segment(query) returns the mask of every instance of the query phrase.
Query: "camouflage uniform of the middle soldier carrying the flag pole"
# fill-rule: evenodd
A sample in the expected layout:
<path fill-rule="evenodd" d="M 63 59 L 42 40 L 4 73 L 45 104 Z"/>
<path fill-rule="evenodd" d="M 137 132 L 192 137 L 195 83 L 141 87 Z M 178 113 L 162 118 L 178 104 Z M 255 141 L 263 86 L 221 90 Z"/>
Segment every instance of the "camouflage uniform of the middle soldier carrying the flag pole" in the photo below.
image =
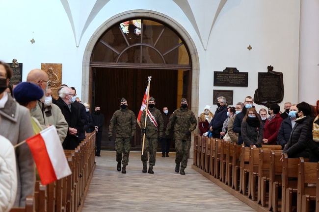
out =
<path fill-rule="evenodd" d="M 160 133 L 160 138 L 164 134 L 164 120 L 160 114 L 160 110 L 154 108 L 149 108 L 149 111 L 154 116 L 155 120 L 158 123 L 156 127 L 149 117 L 146 118 L 146 133 L 145 133 L 145 142 L 144 142 L 144 154 L 141 156 L 142 162 L 147 162 L 147 152 L 150 152 L 150 165 L 155 165 L 156 162 L 156 149 L 158 146 L 158 138 Z M 146 110 L 143 111 L 141 116 L 141 128 L 145 128 L 145 114 Z M 143 142 L 143 137 L 142 137 Z"/>

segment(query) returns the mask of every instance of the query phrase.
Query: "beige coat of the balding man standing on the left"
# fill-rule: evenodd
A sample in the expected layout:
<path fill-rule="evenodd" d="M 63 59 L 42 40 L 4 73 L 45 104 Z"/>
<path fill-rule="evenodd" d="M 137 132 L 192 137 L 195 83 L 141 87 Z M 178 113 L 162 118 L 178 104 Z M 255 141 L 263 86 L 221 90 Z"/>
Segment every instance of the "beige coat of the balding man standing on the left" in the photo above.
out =
<path fill-rule="evenodd" d="M 68 133 L 69 125 L 58 106 L 51 104 L 51 106 L 45 107 L 44 115 L 42 115 L 42 103 L 38 101 L 35 110 L 31 113 L 31 116 L 39 121 L 43 129 L 47 128 L 49 124 L 54 125 L 57 129 L 59 139 L 61 143 L 63 143 Z"/>

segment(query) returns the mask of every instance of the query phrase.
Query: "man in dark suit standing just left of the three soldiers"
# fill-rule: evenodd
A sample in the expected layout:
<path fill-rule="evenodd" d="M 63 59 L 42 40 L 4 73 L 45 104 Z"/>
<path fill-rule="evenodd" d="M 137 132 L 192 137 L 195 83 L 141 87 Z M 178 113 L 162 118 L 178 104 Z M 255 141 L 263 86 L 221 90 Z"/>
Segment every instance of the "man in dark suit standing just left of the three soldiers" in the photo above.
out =
<path fill-rule="evenodd" d="M 102 132 L 104 124 L 104 115 L 101 113 L 101 108 L 99 105 L 96 105 L 94 108 L 94 113 L 91 114 L 94 129 L 96 131 L 96 152 L 95 156 L 100 157 L 101 155 L 101 142 L 102 142 Z"/>

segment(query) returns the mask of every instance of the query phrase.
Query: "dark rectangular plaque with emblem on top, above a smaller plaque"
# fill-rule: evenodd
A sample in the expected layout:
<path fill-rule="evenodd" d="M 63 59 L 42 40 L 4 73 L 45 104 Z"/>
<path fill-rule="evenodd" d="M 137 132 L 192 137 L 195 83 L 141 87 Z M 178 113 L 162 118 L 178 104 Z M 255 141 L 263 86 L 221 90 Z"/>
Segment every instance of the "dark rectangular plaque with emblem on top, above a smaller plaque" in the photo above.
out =
<path fill-rule="evenodd" d="M 248 72 L 229 67 L 224 71 L 214 71 L 214 86 L 248 87 Z"/>

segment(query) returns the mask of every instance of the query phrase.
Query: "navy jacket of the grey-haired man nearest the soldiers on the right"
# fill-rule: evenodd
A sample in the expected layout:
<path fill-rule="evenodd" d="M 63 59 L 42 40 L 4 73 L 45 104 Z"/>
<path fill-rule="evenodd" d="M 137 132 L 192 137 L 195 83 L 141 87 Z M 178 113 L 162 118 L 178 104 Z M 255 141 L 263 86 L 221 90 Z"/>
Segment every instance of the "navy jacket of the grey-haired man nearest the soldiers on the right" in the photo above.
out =
<path fill-rule="evenodd" d="M 212 132 L 213 138 L 220 137 L 220 132 L 223 129 L 223 123 L 225 119 L 228 118 L 227 111 L 228 111 L 227 105 L 220 106 L 216 109 L 214 117 L 211 120 L 211 123 L 209 125 L 209 127 L 213 128 L 213 132 Z"/>

